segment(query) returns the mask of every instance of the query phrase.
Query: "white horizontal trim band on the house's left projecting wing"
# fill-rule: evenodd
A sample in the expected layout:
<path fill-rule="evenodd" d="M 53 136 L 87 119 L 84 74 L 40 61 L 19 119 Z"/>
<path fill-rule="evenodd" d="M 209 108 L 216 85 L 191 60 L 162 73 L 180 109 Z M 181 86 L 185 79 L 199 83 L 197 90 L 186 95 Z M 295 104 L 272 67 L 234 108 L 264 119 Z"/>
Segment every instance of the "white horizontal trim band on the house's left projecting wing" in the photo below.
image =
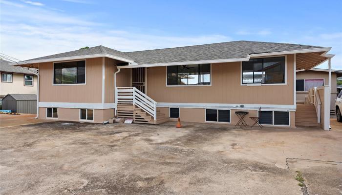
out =
<path fill-rule="evenodd" d="M 71 103 L 71 102 L 39 102 L 39 107 L 52 108 L 86 108 L 86 109 L 111 109 L 114 103 Z"/>

